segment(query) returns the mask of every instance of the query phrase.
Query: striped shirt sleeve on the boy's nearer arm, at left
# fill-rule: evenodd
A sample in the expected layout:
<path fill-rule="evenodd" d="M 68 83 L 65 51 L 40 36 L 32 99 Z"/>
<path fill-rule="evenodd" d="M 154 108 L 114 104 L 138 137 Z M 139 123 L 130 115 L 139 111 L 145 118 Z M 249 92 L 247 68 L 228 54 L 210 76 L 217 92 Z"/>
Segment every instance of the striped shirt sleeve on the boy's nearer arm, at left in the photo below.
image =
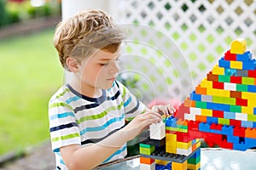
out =
<path fill-rule="evenodd" d="M 49 100 L 49 133 L 54 152 L 59 152 L 62 146 L 81 144 L 73 108 L 60 98 Z"/>

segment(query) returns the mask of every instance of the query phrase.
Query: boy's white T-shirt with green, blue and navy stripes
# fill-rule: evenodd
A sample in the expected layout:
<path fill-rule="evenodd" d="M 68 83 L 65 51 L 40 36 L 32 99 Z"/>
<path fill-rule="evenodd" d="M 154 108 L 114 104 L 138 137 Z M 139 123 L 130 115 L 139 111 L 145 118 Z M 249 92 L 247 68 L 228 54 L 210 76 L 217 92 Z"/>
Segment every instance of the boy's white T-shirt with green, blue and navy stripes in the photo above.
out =
<path fill-rule="evenodd" d="M 56 169 L 67 169 L 60 148 L 70 144 L 83 147 L 105 139 L 142 113 L 145 105 L 124 85 L 114 82 L 99 98 L 79 94 L 70 85 L 62 86 L 49 100 L 49 132 Z M 103 162 L 123 158 L 126 144 Z"/>

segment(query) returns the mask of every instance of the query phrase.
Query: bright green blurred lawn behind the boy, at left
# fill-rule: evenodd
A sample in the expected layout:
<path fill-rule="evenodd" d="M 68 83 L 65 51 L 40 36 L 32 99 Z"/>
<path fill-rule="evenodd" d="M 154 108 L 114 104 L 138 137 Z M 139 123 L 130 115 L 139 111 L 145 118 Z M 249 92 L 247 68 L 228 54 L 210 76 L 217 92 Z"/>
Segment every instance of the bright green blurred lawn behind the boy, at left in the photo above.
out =
<path fill-rule="evenodd" d="M 0 155 L 49 139 L 48 101 L 63 77 L 53 34 L 0 40 Z"/>

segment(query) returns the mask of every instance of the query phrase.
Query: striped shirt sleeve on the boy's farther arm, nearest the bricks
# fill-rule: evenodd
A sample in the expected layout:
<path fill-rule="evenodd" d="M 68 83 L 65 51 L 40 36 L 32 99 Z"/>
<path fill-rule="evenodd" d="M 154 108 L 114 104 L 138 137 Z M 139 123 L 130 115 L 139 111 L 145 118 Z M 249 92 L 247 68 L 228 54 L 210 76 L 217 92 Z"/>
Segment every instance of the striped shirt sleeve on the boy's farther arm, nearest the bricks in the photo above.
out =
<path fill-rule="evenodd" d="M 146 106 L 133 94 L 131 94 L 129 89 L 126 88 L 122 83 L 116 83 L 124 101 L 125 119 L 127 121 L 131 121 L 131 119 L 138 114 L 142 114 L 145 111 Z"/>

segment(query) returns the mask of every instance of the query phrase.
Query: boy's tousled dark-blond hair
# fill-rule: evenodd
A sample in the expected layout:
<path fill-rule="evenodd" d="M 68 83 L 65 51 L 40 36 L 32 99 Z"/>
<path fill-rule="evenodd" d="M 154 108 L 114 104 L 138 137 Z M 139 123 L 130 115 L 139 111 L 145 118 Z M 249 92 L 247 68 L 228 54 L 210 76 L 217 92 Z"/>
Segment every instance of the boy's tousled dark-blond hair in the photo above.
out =
<path fill-rule="evenodd" d="M 123 31 L 113 24 L 110 15 L 102 10 L 87 9 L 61 21 L 56 26 L 53 43 L 61 65 L 69 71 L 68 57 L 80 61 L 95 53 L 96 49 L 115 53 L 123 38 Z"/>

